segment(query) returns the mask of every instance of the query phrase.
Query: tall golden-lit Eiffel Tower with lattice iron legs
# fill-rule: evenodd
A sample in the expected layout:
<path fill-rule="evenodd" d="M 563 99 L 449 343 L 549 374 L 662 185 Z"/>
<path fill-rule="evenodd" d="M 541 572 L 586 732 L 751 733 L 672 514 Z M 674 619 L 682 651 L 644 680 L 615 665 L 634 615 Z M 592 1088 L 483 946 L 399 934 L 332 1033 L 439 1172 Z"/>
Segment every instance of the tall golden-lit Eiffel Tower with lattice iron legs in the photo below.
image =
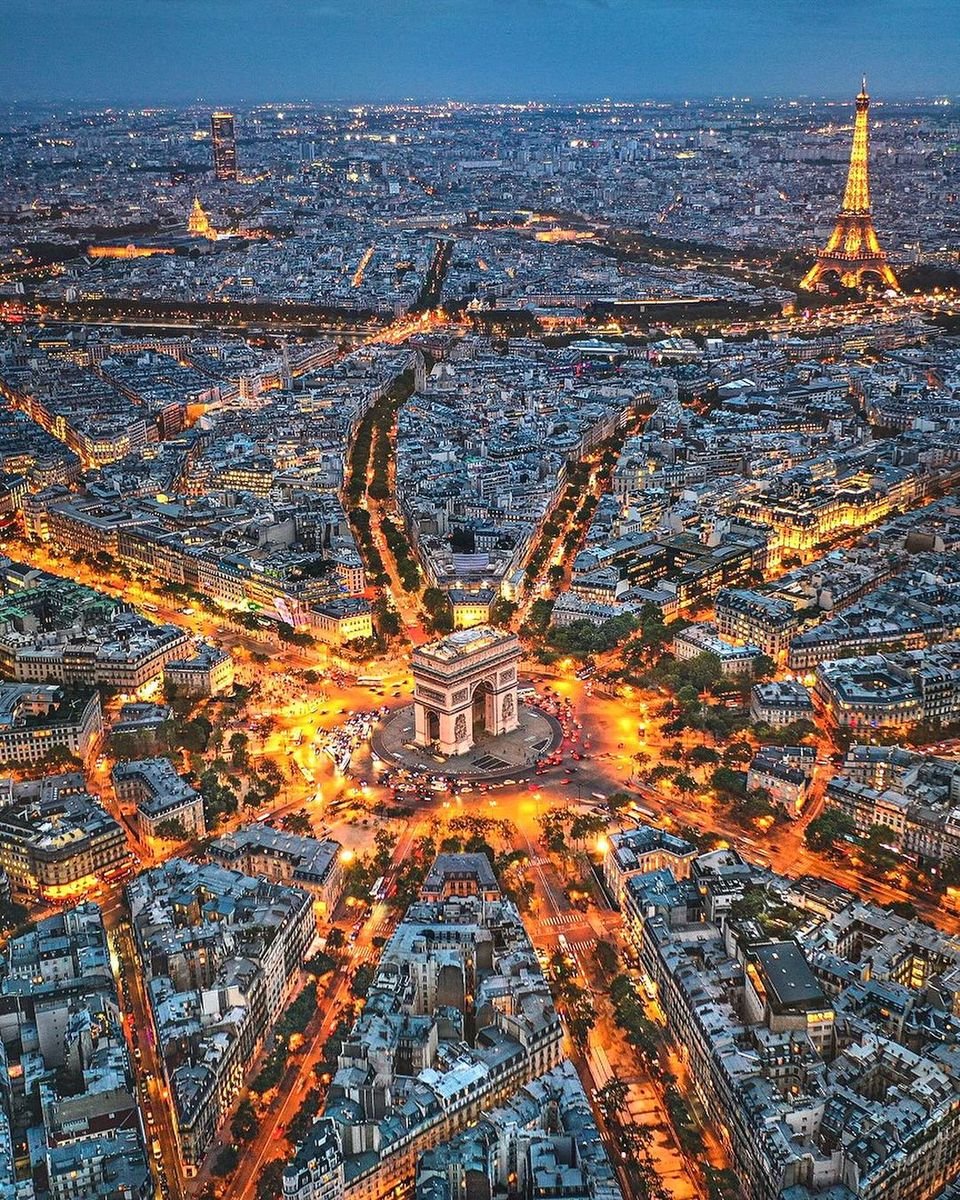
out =
<path fill-rule="evenodd" d="M 845 288 L 859 288 L 866 282 L 883 283 L 900 290 L 887 254 L 880 248 L 870 212 L 870 97 L 866 78 L 857 97 L 853 121 L 853 146 L 844 203 L 836 214 L 829 241 L 804 275 L 800 287 L 808 292 L 818 283 L 838 280 Z"/>

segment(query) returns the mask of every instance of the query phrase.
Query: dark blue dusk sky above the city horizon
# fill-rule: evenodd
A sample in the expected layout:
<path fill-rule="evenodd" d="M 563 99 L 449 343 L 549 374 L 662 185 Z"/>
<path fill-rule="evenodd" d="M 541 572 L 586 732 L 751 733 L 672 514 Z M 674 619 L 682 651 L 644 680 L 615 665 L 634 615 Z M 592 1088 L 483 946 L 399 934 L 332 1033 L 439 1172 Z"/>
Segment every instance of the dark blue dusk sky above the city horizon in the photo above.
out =
<path fill-rule="evenodd" d="M 0 0 L 0 100 L 954 94 L 958 0 Z"/>

